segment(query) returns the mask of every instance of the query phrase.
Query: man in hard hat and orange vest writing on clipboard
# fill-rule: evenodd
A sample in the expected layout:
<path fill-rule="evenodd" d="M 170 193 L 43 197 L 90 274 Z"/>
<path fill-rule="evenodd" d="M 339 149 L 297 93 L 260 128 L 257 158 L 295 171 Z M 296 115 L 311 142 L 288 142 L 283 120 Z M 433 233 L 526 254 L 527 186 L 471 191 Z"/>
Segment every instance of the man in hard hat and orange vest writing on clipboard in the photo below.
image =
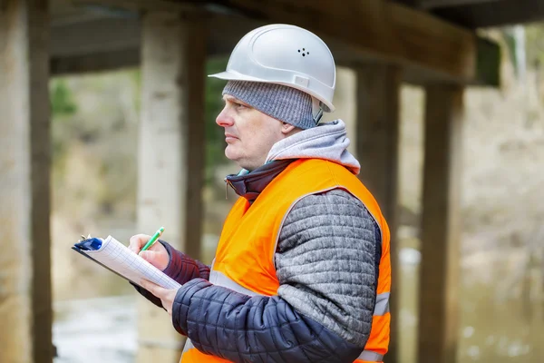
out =
<path fill-rule="evenodd" d="M 382 361 L 389 344 L 389 231 L 358 181 L 334 111 L 335 62 L 305 29 L 267 25 L 228 61 L 226 179 L 240 198 L 211 267 L 167 242 L 141 252 L 183 286 L 143 281 L 188 341 L 181 362 Z M 149 236 L 131 238 L 139 252 Z M 152 295 L 149 293 L 151 292 Z"/>

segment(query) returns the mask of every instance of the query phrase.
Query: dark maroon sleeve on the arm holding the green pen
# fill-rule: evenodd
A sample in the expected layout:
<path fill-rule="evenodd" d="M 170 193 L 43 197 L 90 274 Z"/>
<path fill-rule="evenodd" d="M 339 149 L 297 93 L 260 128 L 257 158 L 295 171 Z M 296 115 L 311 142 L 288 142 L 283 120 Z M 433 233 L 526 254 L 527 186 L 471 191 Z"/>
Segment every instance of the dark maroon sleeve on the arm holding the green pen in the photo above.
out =
<path fill-rule="evenodd" d="M 170 243 L 159 240 L 164 248 L 168 251 L 170 256 L 170 262 L 166 267 L 164 272 L 172 280 L 176 280 L 181 285 L 187 283 L 189 280 L 193 279 L 204 279 L 209 280 L 209 266 L 200 262 L 199 260 L 191 259 L 187 254 L 174 249 Z M 160 299 L 151 294 L 147 289 L 143 289 L 140 286 L 137 286 L 131 283 L 144 298 L 150 300 L 153 304 L 162 308 L 162 303 Z"/>

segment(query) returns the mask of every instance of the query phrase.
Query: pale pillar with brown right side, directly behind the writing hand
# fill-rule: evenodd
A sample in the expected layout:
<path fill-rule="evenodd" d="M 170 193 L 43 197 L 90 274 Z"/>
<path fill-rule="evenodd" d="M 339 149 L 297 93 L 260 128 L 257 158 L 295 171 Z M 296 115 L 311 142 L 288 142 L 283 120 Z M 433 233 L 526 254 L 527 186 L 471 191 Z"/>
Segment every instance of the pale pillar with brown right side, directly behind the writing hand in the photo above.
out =
<path fill-rule="evenodd" d="M 206 34 L 197 13 L 143 15 L 139 231 L 199 257 L 204 172 Z M 165 311 L 139 306 L 139 362 L 176 362 L 182 339 Z"/>

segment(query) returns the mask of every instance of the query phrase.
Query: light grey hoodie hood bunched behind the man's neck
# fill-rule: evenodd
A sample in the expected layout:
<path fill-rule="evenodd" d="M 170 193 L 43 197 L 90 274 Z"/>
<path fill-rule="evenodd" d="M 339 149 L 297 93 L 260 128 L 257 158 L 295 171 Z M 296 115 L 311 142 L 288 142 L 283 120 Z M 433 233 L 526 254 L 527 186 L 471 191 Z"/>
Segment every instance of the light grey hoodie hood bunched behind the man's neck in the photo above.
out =
<path fill-rule="evenodd" d="M 276 142 L 268 152 L 265 164 L 286 159 L 324 159 L 339 163 L 358 175 L 361 165 L 347 151 L 350 141 L 346 135 L 345 123 L 342 120 L 320 123 Z"/>

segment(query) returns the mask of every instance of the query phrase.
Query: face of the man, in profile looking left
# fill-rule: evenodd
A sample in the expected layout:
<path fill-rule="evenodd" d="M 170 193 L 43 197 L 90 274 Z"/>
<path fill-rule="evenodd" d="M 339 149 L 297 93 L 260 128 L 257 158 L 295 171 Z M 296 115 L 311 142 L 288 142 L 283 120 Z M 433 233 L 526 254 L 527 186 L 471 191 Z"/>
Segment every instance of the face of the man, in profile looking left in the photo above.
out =
<path fill-rule="evenodd" d="M 272 145 L 285 137 L 285 126 L 231 95 L 225 94 L 223 101 L 225 108 L 216 123 L 225 129 L 225 156 L 241 168 L 255 170 L 265 162 Z"/>

